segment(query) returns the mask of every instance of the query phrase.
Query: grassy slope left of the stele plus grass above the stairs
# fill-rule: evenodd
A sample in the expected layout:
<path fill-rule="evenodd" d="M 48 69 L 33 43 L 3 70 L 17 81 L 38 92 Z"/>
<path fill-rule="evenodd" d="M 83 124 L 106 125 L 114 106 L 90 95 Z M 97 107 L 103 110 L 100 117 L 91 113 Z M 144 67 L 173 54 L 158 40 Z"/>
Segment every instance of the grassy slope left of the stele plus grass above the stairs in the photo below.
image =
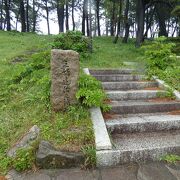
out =
<path fill-rule="evenodd" d="M 0 32 L 0 172 L 6 170 L 5 153 L 32 125 L 41 128 L 43 139 L 52 141 L 61 148 L 79 150 L 84 144 L 93 143 L 92 125 L 88 112 L 80 107 L 72 107 L 67 114 L 54 114 L 47 108 L 43 88 L 49 77 L 49 63 L 41 70 L 35 70 L 20 83 L 13 84 L 12 78 L 23 68 L 38 60 L 29 53 L 37 49 L 47 49 L 52 36 Z M 25 58 L 23 57 L 25 54 Z M 23 62 L 12 63 L 14 57 Z M 48 59 L 44 58 L 44 59 Z M 44 61 L 44 59 L 42 61 Z M 109 38 L 94 39 L 94 53 L 84 58 L 82 67 L 102 68 L 123 67 L 123 61 L 137 61 L 144 64 L 142 52 L 134 47 L 134 42 L 112 43 Z M 17 88 L 18 87 L 18 88 Z M 47 104 L 46 104 L 47 103 Z M 80 129 L 80 131 L 77 131 Z"/>

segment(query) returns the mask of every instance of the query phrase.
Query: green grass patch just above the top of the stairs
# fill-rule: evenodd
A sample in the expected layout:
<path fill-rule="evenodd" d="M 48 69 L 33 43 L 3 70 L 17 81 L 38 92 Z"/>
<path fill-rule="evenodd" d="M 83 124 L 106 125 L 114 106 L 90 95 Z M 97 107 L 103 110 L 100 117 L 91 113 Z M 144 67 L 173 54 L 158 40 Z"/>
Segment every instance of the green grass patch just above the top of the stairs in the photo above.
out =
<path fill-rule="evenodd" d="M 117 44 L 113 44 L 112 40 L 112 37 L 94 38 L 94 52 L 83 60 L 82 67 L 118 68 L 124 66 L 124 61 L 142 61 L 143 53 L 135 48 L 134 40 L 130 40 L 128 44 L 121 43 L 121 39 Z"/>

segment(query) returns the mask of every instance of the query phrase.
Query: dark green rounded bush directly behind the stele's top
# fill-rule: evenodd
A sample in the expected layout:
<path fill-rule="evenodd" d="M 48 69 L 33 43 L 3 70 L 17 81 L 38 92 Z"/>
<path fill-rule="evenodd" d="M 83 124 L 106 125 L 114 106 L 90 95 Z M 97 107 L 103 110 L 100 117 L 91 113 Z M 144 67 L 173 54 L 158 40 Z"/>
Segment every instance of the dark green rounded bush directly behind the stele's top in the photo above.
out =
<path fill-rule="evenodd" d="M 74 50 L 78 53 L 89 51 L 90 40 L 80 31 L 68 31 L 57 35 L 51 44 L 53 49 Z"/>

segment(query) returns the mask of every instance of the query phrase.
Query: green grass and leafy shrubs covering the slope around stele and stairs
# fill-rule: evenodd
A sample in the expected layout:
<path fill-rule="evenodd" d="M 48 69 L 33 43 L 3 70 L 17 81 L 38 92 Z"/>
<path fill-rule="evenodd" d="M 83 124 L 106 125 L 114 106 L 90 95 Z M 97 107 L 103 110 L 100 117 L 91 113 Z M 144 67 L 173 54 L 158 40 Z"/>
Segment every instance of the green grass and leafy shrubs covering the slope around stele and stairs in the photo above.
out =
<path fill-rule="evenodd" d="M 69 38 L 68 42 L 64 41 L 67 49 L 71 47 L 83 52 L 81 68 L 125 67 L 124 61 L 135 61 L 146 66 L 149 75 L 158 75 L 179 90 L 179 61 L 169 59 L 173 55 L 171 48 L 176 54 L 178 51 L 177 46 L 167 44 L 172 41 L 169 39 L 166 42 L 162 39 L 145 42 L 148 56 L 144 58 L 145 50 L 135 48 L 135 39 L 129 39 L 128 44 L 122 41 L 114 44 L 113 37 L 96 37 L 89 46 L 89 41 L 79 32 L 40 36 L 0 31 L 1 173 L 5 173 L 9 167 L 24 170 L 33 166 L 36 144 L 27 151 L 20 150 L 14 160 L 7 158 L 6 152 L 34 124 L 41 129 L 40 139 L 48 140 L 62 150 L 82 151 L 86 156 L 85 165 L 95 164 L 94 137 L 88 108 L 100 106 L 105 111 L 109 109 L 109 106 L 104 105 L 106 96 L 99 82 L 84 75 L 81 70 L 77 93 L 79 103 L 69 107 L 66 113 L 51 111 L 50 49 L 64 47 L 58 44 L 58 41 L 63 42 L 63 38 Z M 79 40 L 82 44 L 77 43 Z M 72 48 L 72 44 L 78 46 Z M 152 51 L 157 46 L 160 51 Z M 93 47 L 92 53 L 89 53 L 89 47 Z"/>

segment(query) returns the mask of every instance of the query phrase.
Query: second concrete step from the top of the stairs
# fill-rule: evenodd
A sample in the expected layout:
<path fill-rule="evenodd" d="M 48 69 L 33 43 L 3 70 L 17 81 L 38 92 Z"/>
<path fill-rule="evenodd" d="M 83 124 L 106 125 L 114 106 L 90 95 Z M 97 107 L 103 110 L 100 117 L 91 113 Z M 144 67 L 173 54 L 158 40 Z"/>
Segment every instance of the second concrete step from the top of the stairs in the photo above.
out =
<path fill-rule="evenodd" d="M 94 75 L 94 77 L 102 82 L 117 82 L 117 81 L 139 81 L 144 78 L 143 75 L 120 75 L 120 74 L 109 74 L 109 75 Z"/>

